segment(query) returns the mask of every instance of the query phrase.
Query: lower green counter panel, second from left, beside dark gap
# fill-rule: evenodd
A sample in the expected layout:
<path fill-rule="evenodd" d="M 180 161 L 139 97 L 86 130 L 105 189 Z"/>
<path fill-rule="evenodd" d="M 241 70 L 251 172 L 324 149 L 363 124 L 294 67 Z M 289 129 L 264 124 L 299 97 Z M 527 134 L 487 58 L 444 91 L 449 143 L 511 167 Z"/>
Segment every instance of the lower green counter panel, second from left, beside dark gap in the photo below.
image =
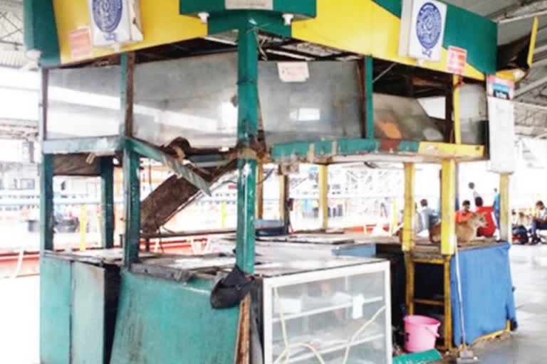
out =
<path fill-rule="evenodd" d="M 105 362 L 105 269 L 72 264 L 72 363 Z"/>

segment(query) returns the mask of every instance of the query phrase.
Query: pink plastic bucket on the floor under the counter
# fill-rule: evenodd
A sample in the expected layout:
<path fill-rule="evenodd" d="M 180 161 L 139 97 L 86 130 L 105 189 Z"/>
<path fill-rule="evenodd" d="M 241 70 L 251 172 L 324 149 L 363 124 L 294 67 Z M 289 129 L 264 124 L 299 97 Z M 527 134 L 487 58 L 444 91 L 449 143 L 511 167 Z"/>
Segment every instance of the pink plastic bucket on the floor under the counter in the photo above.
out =
<path fill-rule="evenodd" d="M 435 348 L 441 323 L 427 316 L 405 317 L 405 350 L 420 353 Z"/>

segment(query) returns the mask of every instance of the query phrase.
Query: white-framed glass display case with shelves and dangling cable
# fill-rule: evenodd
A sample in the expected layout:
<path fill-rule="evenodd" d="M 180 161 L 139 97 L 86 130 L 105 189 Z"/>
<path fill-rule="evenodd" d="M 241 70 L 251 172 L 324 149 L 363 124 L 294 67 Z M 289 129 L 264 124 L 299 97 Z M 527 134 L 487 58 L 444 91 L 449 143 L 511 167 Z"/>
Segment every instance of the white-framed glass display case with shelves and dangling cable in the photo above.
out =
<path fill-rule="evenodd" d="M 264 363 L 392 363 L 389 262 L 262 264 Z"/>

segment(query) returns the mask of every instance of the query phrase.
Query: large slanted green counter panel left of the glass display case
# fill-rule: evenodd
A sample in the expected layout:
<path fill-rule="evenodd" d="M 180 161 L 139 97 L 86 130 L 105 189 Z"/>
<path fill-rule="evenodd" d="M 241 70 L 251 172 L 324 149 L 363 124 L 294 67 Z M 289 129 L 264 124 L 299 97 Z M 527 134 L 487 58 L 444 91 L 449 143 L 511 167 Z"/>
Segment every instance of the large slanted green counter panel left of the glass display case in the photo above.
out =
<path fill-rule="evenodd" d="M 234 363 L 239 307 L 212 309 L 211 289 L 124 271 L 110 363 Z"/>

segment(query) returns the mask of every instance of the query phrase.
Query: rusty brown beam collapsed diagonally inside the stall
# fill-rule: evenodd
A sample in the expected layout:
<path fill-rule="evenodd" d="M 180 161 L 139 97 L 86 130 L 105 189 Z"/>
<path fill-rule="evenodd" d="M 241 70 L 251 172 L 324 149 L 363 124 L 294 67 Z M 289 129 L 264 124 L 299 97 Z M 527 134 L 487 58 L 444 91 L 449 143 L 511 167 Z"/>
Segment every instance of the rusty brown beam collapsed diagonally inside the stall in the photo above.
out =
<path fill-rule="evenodd" d="M 211 186 L 224 174 L 234 171 L 236 162 L 231 161 L 219 168 L 197 169 L 194 173 L 202 177 Z M 142 200 L 140 210 L 141 230 L 143 233 L 156 232 L 165 225 L 179 210 L 199 196 L 199 189 L 184 178 L 171 176 Z"/>

